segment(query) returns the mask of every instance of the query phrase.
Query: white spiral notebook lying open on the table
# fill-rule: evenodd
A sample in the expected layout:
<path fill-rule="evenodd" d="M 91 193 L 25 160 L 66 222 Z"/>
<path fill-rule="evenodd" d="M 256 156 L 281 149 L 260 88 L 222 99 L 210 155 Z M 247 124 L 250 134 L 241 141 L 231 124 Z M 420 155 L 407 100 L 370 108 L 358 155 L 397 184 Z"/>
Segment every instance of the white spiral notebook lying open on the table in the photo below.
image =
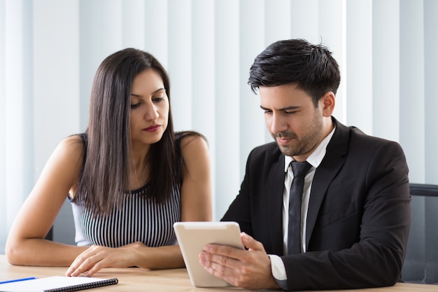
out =
<path fill-rule="evenodd" d="M 117 284 L 118 279 L 53 276 L 0 284 L 0 292 L 70 292 Z"/>

